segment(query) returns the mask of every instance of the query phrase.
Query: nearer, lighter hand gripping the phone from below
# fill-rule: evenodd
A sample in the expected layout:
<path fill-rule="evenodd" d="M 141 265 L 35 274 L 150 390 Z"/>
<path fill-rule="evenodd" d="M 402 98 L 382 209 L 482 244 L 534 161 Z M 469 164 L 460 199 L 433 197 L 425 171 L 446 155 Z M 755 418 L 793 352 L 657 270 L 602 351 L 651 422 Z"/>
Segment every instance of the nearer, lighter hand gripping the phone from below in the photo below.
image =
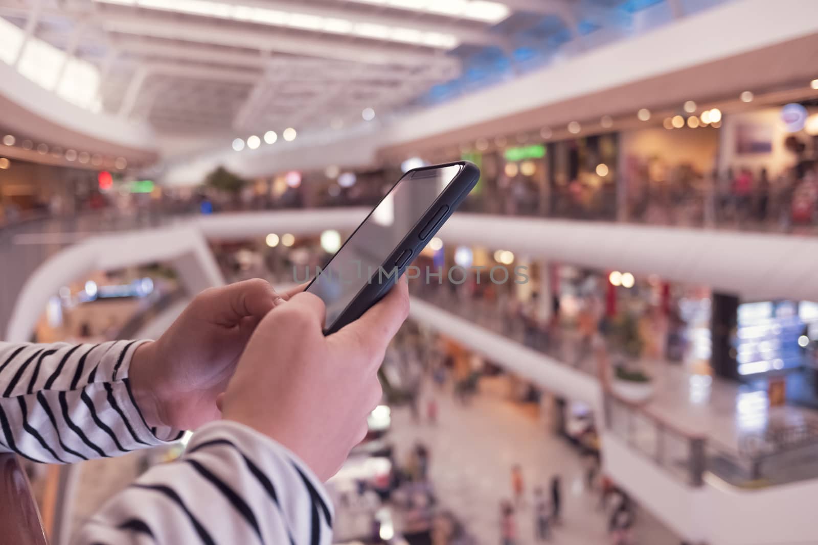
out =
<path fill-rule="evenodd" d="M 409 313 L 406 279 L 361 318 L 324 337 L 325 307 L 297 293 L 258 324 L 220 404 L 223 417 L 283 444 L 329 479 L 366 436 L 377 372 Z"/>

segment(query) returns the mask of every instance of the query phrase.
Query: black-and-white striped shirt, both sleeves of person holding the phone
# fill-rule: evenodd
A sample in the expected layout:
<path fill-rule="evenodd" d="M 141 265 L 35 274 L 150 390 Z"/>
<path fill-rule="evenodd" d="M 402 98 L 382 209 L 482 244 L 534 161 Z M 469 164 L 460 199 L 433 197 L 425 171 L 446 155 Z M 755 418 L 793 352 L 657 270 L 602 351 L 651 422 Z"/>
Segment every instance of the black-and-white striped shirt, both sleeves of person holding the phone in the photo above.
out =
<path fill-rule="evenodd" d="M 34 462 L 118 456 L 177 440 L 149 427 L 128 382 L 139 342 L 0 342 L 0 452 Z M 175 462 L 146 471 L 74 543 L 320 545 L 332 504 L 289 450 L 238 422 L 201 427 Z"/>

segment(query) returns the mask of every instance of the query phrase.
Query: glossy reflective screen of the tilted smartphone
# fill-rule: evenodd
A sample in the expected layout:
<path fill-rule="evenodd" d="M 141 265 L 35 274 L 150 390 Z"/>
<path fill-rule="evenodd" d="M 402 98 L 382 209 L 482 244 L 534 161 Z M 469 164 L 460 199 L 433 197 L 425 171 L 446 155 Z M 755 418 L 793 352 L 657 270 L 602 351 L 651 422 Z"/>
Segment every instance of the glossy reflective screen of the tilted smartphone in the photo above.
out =
<path fill-rule="evenodd" d="M 383 266 L 387 274 L 393 272 L 393 266 L 384 265 L 384 261 L 461 168 L 452 165 L 421 170 L 414 174 L 416 177 L 403 176 L 335 253 L 307 290 L 326 305 L 326 328 L 335 323 L 366 284 L 387 278 L 384 274 L 377 277 L 379 267 Z"/>

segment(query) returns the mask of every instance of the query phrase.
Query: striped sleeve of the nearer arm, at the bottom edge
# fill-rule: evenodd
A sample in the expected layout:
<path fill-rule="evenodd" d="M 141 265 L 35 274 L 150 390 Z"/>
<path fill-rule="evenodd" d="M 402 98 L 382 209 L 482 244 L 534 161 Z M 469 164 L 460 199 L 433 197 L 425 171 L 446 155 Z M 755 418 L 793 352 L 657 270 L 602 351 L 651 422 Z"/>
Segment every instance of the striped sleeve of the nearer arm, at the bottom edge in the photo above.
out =
<path fill-rule="evenodd" d="M 289 450 L 237 422 L 211 422 L 182 458 L 111 498 L 74 545 L 325 545 L 332 517 L 323 486 Z"/>

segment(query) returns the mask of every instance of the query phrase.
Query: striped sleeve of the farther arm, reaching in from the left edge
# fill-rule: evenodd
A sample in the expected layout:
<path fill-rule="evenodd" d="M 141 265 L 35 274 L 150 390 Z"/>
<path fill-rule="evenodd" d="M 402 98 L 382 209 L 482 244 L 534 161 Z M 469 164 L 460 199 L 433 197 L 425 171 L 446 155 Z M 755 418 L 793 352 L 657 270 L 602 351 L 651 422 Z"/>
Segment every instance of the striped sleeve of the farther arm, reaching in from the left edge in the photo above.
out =
<path fill-rule="evenodd" d="M 0 451 L 70 463 L 177 440 L 178 430 L 148 427 L 133 399 L 140 343 L 0 342 Z"/>

